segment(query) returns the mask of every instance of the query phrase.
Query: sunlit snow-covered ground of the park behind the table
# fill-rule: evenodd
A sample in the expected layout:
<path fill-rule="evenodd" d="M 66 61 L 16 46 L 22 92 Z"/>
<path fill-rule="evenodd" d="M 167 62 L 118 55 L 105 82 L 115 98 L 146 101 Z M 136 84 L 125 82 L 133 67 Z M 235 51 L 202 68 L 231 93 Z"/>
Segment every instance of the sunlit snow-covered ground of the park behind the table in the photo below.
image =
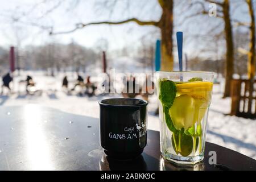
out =
<path fill-rule="evenodd" d="M 43 90 L 42 96 L 26 96 L 25 86 L 19 84 L 26 75 L 33 76 L 36 82 L 36 89 Z M 86 75 L 83 75 L 86 76 Z M 22 72 L 16 76 L 13 84 L 14 93 L 8 96 L 0 96 L 0 108 L 3 106 L 20 106 L 26 104 L 40 104 L 53 107 L 67 113 L 87 115 L 98 118 L 98 100 L 108 97 L 121 97 L 118 94 L 113 96 L 77 96 L 67 95 L 61 89 L 63 73 L 55 77 L 46 76 L 43 72 Z M 75 73 L 68 73 L 68 80 L 76 80 Z M 92 78 L 93 81 L 93 78 Z M 18 93 L 18 90 L 20 93 Z M 209 111 L 207 141 L 238 151 L 244 155 L 256 159 L 256 121 L 251 119 L 238 118 L 228 114 L 230 111 L 230 99 L 222 99 L 220 85 L 214 85 L 212 104 Z M 154 115 L 157 107 L 156 96 L 150 97 L 148 105 L 148 129 L 159 131 L 159 119 Z"/>

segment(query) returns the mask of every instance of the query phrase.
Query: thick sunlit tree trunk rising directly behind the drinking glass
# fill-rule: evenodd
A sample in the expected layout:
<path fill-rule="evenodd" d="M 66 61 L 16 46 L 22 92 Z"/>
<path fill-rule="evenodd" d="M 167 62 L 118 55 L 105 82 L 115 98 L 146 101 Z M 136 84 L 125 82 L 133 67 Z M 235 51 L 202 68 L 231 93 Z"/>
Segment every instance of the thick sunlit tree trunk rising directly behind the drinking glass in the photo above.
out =
<path fill-rule="evenodd" d="M 163 13 L 159 22 L 161 30 L 161 71 L 173 71 L 174 57 L 172 56 L 173 32 L 173 0 L 159 0 Z"/>

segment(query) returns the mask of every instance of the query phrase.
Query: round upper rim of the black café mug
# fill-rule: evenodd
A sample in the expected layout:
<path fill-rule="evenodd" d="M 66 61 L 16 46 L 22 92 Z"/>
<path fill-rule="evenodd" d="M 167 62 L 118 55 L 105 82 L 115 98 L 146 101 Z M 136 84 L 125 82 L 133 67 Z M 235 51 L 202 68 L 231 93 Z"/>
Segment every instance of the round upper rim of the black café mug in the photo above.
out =
<path fill-rule="evenodd" d="M 142 101 L 142 104 L 134 104 L 134 105 L 117 105 L 117 104 L 106 104 L 103 103 L 104 101 L 108 101 L 108 100 L 137 100 L 137 101 Z M 104 100 L 98 101 L 98 104 L 102 105 L 102 106 L 109 106 L 109 107 L 138 107 L 138 106 L 146 106 L 148 105 L 148 101 L 146 100 L 142 100 L 142 99 L 138 99 L 138 98 L 106 98 Z"/>

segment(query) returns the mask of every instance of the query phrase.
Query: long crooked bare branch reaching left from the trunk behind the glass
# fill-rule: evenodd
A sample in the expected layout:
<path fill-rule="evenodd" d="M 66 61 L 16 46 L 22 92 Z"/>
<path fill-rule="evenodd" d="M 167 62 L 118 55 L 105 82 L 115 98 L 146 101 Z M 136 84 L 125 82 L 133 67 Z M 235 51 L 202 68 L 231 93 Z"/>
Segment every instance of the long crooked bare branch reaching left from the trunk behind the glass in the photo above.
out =
<path fill-rule="evenodd" d="M 119 21 L 119 22 L 108 22 L 108 21 L 104 21 L 104 22 L 92 22 L 92 23 L 77 23 L 76 27 L 73 28 L 72 30 L 69 31 L 63 31 L 63 32 L 49 32 L 50 35 L 54 35 L 54 34 L 69 34 L 71 32 L 75 32 L 76 30 L 79 30 L 81 28 L 84 28 L 86 26 L 90 26 L 90 25 L 95 25 L 95 24 L 123 24 L 123 23 L 128 23 L 128 22 L 135 22 L 141 26 L 156 26 L 158 27 L 159 22 L 154 22 L 154 21 L 141 21 L 138 20 L 137 18 L 131 18 L 131 19 L 127 19 L 127 20 L 123 20 L 123 21 Z"/>

